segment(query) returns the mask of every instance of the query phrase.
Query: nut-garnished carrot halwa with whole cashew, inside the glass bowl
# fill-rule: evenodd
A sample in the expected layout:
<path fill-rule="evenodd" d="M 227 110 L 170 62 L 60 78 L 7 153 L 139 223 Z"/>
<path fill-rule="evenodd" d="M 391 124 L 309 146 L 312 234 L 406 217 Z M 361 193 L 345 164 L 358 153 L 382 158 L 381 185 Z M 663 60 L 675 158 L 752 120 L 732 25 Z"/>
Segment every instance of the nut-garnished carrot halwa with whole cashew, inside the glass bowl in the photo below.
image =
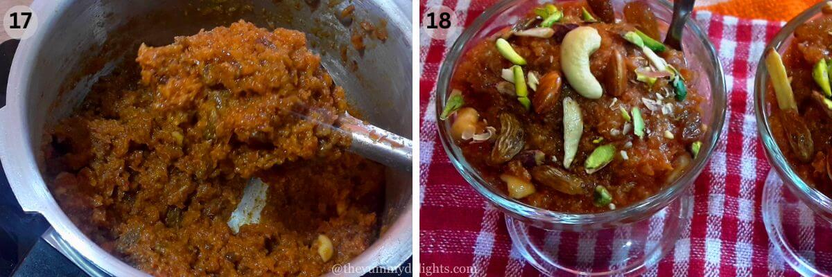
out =
<path fill-rule="evenodd" d="M 547 3 L 470 47 L 440 117 L 466 161 L 542 209 L 598 213 L 656 195 L 707 126 L 696 72 L 646 2 Z M 623 20 L 621 20 L 623 19 Z M 458 110 L 454 110 L 458 109 Z"/>

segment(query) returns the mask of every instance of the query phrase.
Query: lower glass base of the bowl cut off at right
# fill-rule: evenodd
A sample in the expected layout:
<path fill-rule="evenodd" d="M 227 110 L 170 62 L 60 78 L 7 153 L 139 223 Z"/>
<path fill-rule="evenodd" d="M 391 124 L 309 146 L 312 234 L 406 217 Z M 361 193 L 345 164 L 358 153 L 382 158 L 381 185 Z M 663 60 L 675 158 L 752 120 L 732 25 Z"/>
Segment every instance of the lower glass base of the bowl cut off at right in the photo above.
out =
<path fill-rule="evenodd" d="M 765 232 L 783 260 L 804 276 L 832 275 L 832 223 L 800 201 L 775 171 L 765 179 Z M 825 249 L 823 249 L 825 248 Z"/>

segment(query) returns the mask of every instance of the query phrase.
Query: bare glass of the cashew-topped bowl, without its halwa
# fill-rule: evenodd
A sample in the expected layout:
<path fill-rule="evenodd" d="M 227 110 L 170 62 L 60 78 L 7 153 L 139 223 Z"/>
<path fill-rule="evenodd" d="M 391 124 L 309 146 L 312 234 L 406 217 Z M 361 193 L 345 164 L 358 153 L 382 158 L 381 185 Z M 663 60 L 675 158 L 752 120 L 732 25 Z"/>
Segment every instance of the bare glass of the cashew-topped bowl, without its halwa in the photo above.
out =
<path fill-rule="evenodd" d="M 630 1 L 612 1 L 618 18 L 621 18 L 620 11 L 626 2 Z M 663 0 L 646 2 L 656 13 L 662 32 L 666 32 L 672 14 L 671 3 Z M 434 103 L 437 118 L 448 99 L 451 78 L 464 53 L 476 43 L 511 26 L 539 5 L 533 0 L 498 2 L 464 30 L 439 71 Z M 696 86 L 697 92 L 706 97 L 702 117 L 708 129 L 701 151 L 690 169 L 664 190 L 617 210 L 599 214 L 569 214 L 539 209 L 514 200 L 498 185 L 485 181 L 480 172 L 465 160 L 449 134 L 450 122 L 438 121 L 439 137 L 453 166 L 474 190 L 508 215 L 506 222 L 515 247 L 544 274 L 635 273 L 660 260 L 690 224 L 692 197 L 689 188 L 705 167 L 719 139 L 725 120 L 726 87 L 716 51 L 692 19 L 686 23 L 682 45 L 691 70 L 699 73 L 697 82 L 692 86 Z"/>

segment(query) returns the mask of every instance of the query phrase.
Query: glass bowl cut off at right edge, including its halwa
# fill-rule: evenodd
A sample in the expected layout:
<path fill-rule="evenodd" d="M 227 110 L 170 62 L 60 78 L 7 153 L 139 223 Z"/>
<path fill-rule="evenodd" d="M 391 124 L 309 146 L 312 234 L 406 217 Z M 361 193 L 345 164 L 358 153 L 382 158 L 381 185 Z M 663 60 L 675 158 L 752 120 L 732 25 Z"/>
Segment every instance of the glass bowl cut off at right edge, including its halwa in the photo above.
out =
<path fill-rule="evenodd" d="M 819 2 L 788 22 L 765 48 L 755 76 L 760 139 L 773 171 L 762 215 L 775 249 L 801 275 L 830 275 L 823 237 L 832 231 L 829 32 L 832 6 Z"/>

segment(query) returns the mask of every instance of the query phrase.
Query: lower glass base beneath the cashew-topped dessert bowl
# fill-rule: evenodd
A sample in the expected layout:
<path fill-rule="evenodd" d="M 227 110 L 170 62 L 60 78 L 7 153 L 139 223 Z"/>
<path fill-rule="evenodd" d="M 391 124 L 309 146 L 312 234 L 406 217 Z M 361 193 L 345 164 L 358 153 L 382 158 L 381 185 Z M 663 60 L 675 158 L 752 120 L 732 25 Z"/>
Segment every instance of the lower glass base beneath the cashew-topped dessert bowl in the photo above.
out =
<path fill-rule="evenodd" d="M 690 234 L 693 196 L 687 190 L 656 214 L 598 230 L 544 230 L 505 216 L 513 247 L 542 274 L 640 275 Z"/>

